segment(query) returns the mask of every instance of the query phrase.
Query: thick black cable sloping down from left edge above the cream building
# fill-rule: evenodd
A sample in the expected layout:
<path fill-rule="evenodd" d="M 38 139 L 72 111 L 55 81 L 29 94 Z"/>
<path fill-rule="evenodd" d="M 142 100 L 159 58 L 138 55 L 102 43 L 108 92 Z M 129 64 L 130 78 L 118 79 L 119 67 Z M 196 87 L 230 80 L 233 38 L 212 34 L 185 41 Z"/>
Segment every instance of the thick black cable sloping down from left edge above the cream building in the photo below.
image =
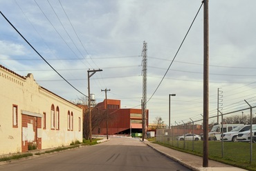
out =
<path fill-rule="evenodd" d="M 12 28 L 15 29 L 15 31 L 24 39 L 24 41 L 26 41 L 26 43 L 28 43 L 28 45 L 33 48 L 33 50 L 39 55 L 39 57 L 41 57 L 47 64 L 48 66 L 50 66 L 60 77 L 62 77 L 62 75 L 57 72 L 57 70 L 55 70 L 53 68 L 53 66 L 51 66 L 50 63 L 48 63 L 48 61 L 46 61 L 46 59 L 44 59 L 44 57 L 42 57 L 41 54 L 39 54 L 39 52 L 37 52 L 37 50 L 35 50 L 35 48 L 26 40 L 26 38 L 15 28 L 15 26 L 12 25 L 12 23 L 6 18 L 6 16 L 0 11 L 1 15 L 3 16 L 4 19 L 6 19 L 6 21 L 8 21 L 8 23 L 10 24 L 10 26 L 12 26 Z M 64 81 L 66 81 L 66 83 L 68 83 L 72 88 L 74 88 L 75 90 L 77 90 L 77 88 L 75 88 L 71 83 L 69 83 L 64 77 L 62 77 L 62 79 L 64 79 Z M 80 90 L 77 90 L 77 92 L 80 92 Z M 85 94 L 83 94 L 82 92 L 80 92 L 82 95 L 84 95 L 85 97 L 87 97 Z"/>

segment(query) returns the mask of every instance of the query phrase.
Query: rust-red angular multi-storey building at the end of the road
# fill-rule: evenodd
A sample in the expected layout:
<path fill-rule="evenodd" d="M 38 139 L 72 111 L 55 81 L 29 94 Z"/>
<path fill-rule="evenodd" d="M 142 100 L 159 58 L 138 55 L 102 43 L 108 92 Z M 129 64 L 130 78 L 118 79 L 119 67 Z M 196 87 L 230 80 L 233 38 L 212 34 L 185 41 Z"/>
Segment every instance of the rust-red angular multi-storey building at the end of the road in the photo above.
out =
<path fill-rule="evenodd" d="M 107 99 L 95 105 L 100 112 L 108 113 L 108 132 L 112 134 L 142 133 L 142 110 L 134 108 L 120 108 L 120 100 Z M 146 110 L 146 129 L 148 127 L 149 110 Z M 107 121 L 95 128 L 93 134 L 107 134 Z"/>

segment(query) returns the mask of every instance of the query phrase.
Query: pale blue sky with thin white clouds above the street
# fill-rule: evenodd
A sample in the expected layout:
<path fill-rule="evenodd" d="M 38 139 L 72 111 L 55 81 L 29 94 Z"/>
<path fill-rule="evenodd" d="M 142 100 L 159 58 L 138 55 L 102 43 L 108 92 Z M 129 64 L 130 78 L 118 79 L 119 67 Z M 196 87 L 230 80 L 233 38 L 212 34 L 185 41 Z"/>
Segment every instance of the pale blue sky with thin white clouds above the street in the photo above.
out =
<path fill-rule="evenodd" d="M 223 114 L 248 108 L 244 100 L 256 105 L 255 6 L 254 0 L 209 1 L 209 117 L 217 115 L 218 94 Z M 176 94 L 170 101 L 172 125 L 198 121 L 203 119 L 200 7 L 201 0 L 0 0 L 12 25 L 79 91 L 1 15 L 0 64 L 22 76 L 33 73 L 39 86 L 69 101 L 88 95 L 87 71 L 101 69 L 90 78 L 96 103 L 107 88 L 107 99 L 119 99 L 121 108 L 140 108 L 145 41 L 149 123 L 161 117 L 168 124 L 169 94 Z"/>

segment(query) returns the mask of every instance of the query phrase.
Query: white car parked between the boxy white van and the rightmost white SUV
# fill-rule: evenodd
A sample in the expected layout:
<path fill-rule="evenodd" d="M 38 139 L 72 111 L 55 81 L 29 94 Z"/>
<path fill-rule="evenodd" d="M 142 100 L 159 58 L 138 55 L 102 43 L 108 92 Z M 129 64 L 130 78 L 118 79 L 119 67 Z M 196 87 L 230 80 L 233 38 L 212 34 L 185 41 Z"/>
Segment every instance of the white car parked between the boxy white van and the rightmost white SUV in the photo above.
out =
<path fill-rule="evenodd" d="M 230 132 L 223 133 L 223 136 L 221 135 L 221 140 L 237 142 L 237 135 L 247 130 L 250 130 L 250 125 L 239 125 Z"/>

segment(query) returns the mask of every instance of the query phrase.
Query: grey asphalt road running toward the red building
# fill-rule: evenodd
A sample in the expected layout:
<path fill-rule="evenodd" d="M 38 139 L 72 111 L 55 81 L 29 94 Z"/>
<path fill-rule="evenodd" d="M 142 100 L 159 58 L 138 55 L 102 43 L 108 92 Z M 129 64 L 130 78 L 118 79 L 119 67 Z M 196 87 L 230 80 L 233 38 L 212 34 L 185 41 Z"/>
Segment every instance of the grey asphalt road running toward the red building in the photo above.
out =
<path fill-rule="evenodd" d="M 44 154 L 0 165 L 0 170 L 161 171 L 189 170 L 159 154 L 139 139 L 114 138 L 98 145 Z"/>

